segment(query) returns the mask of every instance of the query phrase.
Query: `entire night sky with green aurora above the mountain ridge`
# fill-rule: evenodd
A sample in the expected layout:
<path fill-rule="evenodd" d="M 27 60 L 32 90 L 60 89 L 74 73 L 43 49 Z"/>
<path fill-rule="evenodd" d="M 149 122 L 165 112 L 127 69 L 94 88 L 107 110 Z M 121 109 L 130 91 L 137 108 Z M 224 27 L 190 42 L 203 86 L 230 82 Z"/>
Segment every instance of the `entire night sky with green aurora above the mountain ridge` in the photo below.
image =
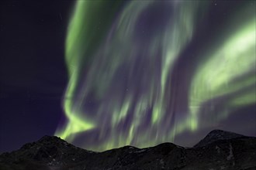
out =
<path fill-rule="evenodd" d="M 254 1 L 1 1 L 0 152 L 256 136 Z"/>

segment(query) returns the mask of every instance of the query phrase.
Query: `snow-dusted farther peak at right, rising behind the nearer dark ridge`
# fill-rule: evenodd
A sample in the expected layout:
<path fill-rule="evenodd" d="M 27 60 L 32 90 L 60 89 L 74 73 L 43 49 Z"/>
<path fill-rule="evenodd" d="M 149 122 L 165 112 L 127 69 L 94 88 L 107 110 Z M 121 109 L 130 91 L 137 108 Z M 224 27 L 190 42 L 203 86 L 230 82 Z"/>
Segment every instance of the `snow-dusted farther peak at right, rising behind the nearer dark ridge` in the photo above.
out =
<path fill-rule="evenodd" d="M 234 138 L 242 138 L 244 135 L 241 134 L 236 134 L 234 132 L 230 131 L 223 131 L 220 129 L 216 129 L 213 131 L 210 131 L 209 134 L 206 135 L 205 138 L 203 138 L 201 141 L 199 141 L 198 144 L 196 144 L 194 147 L 203 147 L 206 145 L 209 145 L 210 143 L 213 143 L 214 141 L 219 141 L 219 140 L 230 140 Z"/>

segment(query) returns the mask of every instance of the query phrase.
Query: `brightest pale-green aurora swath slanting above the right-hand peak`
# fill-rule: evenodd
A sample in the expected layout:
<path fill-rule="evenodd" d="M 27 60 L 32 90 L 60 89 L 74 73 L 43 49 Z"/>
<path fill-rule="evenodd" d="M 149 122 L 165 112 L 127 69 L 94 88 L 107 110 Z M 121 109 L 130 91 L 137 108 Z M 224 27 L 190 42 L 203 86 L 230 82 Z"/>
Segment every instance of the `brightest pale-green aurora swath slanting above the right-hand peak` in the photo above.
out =
<path fill-rule="evenodd" d="M 255 70 L 255 20 L 251 20 L 233 35 L 216 53 L 209 55 L 208 59 L 198 67 L 192 79 L 189 104 L 192 114 L 191 128 L 199 119 L 199 109 L 207 101 L 255 85 L 255 76 L 236 81 L 237 77 Z M 255 88 L 251 93 L 255 93 Z M 231 103 L 253 104 L 254 101 L 254 97 L 246 95 L 242 100 L 238 97 Z"/>

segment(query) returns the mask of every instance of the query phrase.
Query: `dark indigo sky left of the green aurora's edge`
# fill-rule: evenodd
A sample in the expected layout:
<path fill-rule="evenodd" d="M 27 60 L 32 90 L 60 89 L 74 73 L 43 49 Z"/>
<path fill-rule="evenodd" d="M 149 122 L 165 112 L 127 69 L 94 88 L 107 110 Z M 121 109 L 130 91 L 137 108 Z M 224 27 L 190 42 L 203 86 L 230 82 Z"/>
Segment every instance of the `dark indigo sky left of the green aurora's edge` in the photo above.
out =
<path fill-rule="evenodd" d="M 44 134 L 61 119 L 67 83 L 64 39 L 74 2 L 0 2 L 0 152 Z"/>

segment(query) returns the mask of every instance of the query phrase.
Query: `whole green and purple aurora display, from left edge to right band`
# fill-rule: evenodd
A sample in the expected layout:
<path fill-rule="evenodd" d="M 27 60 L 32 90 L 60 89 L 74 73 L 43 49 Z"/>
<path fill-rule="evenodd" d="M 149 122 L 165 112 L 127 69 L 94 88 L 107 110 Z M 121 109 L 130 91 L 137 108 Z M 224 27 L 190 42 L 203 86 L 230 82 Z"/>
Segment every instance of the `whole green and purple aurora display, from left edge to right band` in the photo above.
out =
<path fill-rule="evenodd" d="M 255 104 L 254 2 L 231 3 L 76 2 L 66 38 L 67 121 L 56 134 L 97 151 L 141 148 Z M 227 4 L 236 12 L 200 35 L 209 12 Z M 199 45 L 189 53 L 191 43 Z"/>

